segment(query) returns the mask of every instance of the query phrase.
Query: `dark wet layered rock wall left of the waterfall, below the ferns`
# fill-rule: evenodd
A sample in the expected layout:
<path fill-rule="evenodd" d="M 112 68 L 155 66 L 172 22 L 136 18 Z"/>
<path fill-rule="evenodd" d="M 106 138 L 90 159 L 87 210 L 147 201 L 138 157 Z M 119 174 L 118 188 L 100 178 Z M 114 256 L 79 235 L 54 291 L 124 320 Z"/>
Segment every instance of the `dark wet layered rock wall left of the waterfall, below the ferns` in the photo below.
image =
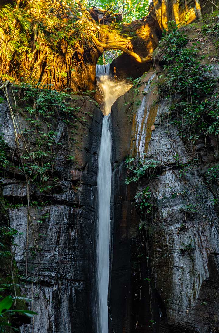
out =
<path fill-rule="evenodd" d="M 11 163 L 2 180 L 3 195 L 11 204 L 10 226 L 20 232 L 15 260 L 22 292 L 33 299 L 31 309 L 38 313 L 21 332 L 96 331 L 96 176 L 102 114 L 89 99 L 77 98 L 77 134 L 65 123 L 56 124 L 60 145 L 53 191 L 41 193 L 29 186 L 28 208 L 26 181 L 18 168 Z M 10 113 L 7 105 L 1 107 L 1 131 L 11 156 L 16 155 Z M 19 119 L 23 128 L 25 117 Z"/>

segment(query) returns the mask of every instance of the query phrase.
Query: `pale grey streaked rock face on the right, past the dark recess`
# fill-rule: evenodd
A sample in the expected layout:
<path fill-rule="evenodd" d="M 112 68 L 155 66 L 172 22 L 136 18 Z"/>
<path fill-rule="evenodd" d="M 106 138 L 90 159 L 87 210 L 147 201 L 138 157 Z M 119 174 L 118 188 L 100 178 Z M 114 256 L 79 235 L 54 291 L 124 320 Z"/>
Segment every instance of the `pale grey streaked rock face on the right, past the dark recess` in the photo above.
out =
<path fill-rule="evenodd" d="M 217 323 L 219 315 L 210 296 L 218 291 L 219 219 L 204 174 L 214 160 L 217 144 L 200 139 L 194 154 L 174 127 L 167 121 L 161 125 L 166 112 L 161 106 L 149 144 L 150 155 L 162 161 L 160 177 L 149 182 L 156 200 L 150 239 L 154 283 L 165 305 L 160 331 L 163 325 L 171 325 L 174 332 L 208 332 L 210 318 Z M 176 153 L 181 166 L 176 165 Z M 199 158 L 199 166 L 188 167 L 191 156 Z"/>

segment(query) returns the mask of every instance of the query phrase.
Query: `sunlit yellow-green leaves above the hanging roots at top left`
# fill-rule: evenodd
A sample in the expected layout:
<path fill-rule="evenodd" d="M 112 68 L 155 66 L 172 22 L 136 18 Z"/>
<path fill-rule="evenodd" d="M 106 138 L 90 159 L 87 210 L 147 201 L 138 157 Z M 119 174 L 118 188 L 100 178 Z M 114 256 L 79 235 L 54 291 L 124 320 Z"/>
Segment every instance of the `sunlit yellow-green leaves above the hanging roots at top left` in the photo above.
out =
<path fill-rule="evenodd" d="M 72 2 L 72 10 L 76 4 Z M 68 11 L 66 10 L 68 13 Z M 63 20 L 61 15 L 64 13 L 56 7 L 52 7 L 49 1 L 41 1 L 37 4 L 27 1 L 26 7 L 14 8 L 13 5 L 5 5 L 0 11 L 1 30 L 10 34 L 14 38 L 10 42 L 9 54 L 13 52 L 20 54 L 23 51 L 29 52 L 31 34 L 35 34 L 35 47 L 42 50 L 43 46 L 50 44 L 53 50 L 60 47 L 64 39 L 70 46 L 74 46 L 77 40 L 81 40 L 81 35 L 85 36 L 85 27 L 80 24 L 80 11 L 75 10 L 75 17 Z M 15 24 L 15 22 L 17 24 Z M 69 50 L 68 50 L 69 52 Z"/>

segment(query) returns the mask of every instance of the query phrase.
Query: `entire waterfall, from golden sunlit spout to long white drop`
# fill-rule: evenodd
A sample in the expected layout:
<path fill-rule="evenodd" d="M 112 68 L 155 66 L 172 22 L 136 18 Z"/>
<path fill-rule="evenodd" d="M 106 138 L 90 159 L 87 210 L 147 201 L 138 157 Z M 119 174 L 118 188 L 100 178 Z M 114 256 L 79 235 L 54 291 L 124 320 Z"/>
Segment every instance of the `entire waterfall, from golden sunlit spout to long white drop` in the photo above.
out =
<path fill-rule="evenodd" d="M 110 64 L 97 65 L 96 82 L 104 105 L 102 134 L 97 172 L 98 224 L 97 224 L 97 290 L 98 290 L 98 333 L 108 333 L 108 286 L 110 258 L 110 196 L 111 196 L 111 106 L 131 86 L 125 81 L 116 82 L 110 76 Z"/>

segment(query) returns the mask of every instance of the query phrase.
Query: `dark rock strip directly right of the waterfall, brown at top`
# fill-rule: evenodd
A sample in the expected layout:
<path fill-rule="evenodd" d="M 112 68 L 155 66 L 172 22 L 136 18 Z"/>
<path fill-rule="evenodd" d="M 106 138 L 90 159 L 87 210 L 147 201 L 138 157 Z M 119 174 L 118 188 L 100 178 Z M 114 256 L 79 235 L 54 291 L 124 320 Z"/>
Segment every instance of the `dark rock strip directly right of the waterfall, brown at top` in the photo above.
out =
<path fill-rule="evenodd" d="M 150 331 L 148 323 L 151 320 L 150 306 L 153 304 L 150 304 L 148 297 L 146 256 L 142 260 L 147 251 L 146 242 L 139 232 L 139 215 L 135 210 L 137 184 L 125 185 L 127 169 L 124 161 L 136 141 L 136 114 L 139 105 L 145 103 L 142 92 L 153 75 L 154 72 L 149 72 L 138 87 L 134 86 L 120 97 L 111 112 L 113 173 L 110 333 Z M 153 99 L 147 99 L 147 102 L 152 104 Z M 139 131 L 142 129 L 139 128 Z"/>

